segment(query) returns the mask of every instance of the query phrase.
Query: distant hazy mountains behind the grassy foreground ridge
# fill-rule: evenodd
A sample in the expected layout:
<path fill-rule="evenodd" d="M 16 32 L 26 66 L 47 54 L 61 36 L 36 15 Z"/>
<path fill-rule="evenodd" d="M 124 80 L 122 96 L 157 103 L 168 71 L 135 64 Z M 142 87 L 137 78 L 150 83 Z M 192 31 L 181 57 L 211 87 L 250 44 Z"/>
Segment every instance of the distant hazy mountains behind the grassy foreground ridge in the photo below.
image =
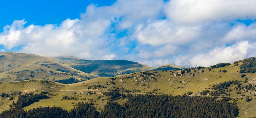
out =
<path fill-rule="evenodd" d="M 14 52 L 0 53 L 0 67 L 0 81 L 29 79 L 53 81 L 69 78 L 89 80 L 139 71 L 182 69 L 182 67 L 174 65 L 153 68 L 127 60 L 86 60 L 71 56 L 46 58 L 34 54 Z"/>

